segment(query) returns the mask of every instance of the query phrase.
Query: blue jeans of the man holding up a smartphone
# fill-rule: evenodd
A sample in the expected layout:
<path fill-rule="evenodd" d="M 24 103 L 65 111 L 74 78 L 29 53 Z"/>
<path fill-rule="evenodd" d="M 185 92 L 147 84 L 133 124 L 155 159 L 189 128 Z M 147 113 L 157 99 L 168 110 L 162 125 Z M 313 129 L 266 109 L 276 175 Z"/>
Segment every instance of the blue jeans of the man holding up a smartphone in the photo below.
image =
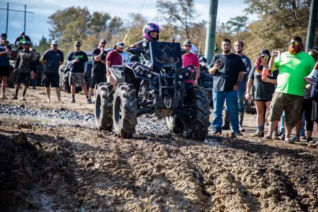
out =
<path fill-rule="evenodd" d="M 239 131 L 239 107 L 238 94 L 236 91 L 213 91 L 213 130 L 222 131 L 222 111 L 224 101 L 226 100 L 226 107 L 230 115 L 230 122 L 232 131 Z"/>

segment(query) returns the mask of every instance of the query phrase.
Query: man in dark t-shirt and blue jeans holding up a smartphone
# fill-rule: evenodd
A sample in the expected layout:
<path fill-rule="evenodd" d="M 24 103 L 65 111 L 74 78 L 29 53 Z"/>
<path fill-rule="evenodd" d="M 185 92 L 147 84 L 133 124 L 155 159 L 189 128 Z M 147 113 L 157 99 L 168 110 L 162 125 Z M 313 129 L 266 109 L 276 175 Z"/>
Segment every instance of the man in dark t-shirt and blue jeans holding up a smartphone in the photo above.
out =
<path fill-rule="evenodd" d="M 231 41 L 222 40 L 222 53 L 213 57 L 209 73 L 213 77 L 213 134 L 222 133 L 224 101 L 230 115 L 231 135 L 243 135 L 239 131 L 239 105 L 237 90 L 246 70 L 241 57 L 231 52 Z"/>

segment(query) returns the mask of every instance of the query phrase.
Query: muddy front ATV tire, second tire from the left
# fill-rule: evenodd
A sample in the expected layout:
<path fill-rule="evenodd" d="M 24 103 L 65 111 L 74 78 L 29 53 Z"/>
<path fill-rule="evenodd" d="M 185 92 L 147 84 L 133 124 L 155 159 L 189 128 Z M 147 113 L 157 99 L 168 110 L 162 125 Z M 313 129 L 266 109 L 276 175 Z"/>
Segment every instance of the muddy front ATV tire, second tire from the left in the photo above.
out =
<path fill-rule="evenodd" d="M 122 138 L 131 139 L 137 125 L 137 101 L 134 85 L 120 83 L 116 86 L 113 104 L 115 133 Z"/>

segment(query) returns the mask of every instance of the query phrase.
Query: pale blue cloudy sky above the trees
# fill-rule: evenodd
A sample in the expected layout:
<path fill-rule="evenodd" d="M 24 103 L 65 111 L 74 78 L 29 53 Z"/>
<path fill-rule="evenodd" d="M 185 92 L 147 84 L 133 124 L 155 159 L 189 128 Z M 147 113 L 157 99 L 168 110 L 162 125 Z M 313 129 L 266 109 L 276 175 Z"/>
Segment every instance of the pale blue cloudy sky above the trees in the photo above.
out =
<path fill-rule="evenodd" d="M 7 0 L 8 1 L 8 0 Z M 172 0 L 174 1 L 174 0 Z M 24 10 L 26 4 L 27 11 L 34 14 L 26 14 L 26 35 L 28 35 L 33 43 L 38 43 L 42 35 L 48 37 L 50 25 L 47 23 L 48 17 L 57 10 L 63 10 L 71 6 L 87 6 L 88 10 L 108 12 L 111 16 L 120 16 L 124 21 L 127 20 L 128 13 L 137 13 L 142 5 L 143 0 L 10 0 L 9 9 Z M 209 17 L 209 0 L 196 0 L 196 9 L 201 15 L 199 18 L 207 20 Z M 243 0 L 219 0 L 218 16 L 220 23 L 226 22 L 231 17 L 244 15 L 247 5 L 243 4 Z M 4 1 L 1 8 L 6 8 Z M 145 0 L 140 13 L 148 18 L 149 22 L 155 20 L 160 14 L 156 10 L 156 0 Z M 7 12 L 0 10 L 0 29 L 1 33 L 6 29 Z M 249 21 L 256 20 L 257 16 L 248 15 Z M 24 29 L 24 13 L 9 11 L 8 39 L 14 41 L 19 36 L 20 31 Z"/>

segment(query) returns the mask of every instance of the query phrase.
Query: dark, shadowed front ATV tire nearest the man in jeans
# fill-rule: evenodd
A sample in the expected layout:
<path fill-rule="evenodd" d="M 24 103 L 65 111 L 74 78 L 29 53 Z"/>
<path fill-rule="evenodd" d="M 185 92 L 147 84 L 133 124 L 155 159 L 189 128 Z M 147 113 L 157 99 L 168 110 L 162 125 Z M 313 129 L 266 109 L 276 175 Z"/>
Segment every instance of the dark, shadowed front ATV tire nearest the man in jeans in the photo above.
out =
<path fill-rule="evenodd" d="M 204 140 L 210 126 L 209 100 L 198 87 L 190 87 L 184 98 L 190 109 L 190 119 L 184 119 L 184 129 L 188 138 Z"/>

